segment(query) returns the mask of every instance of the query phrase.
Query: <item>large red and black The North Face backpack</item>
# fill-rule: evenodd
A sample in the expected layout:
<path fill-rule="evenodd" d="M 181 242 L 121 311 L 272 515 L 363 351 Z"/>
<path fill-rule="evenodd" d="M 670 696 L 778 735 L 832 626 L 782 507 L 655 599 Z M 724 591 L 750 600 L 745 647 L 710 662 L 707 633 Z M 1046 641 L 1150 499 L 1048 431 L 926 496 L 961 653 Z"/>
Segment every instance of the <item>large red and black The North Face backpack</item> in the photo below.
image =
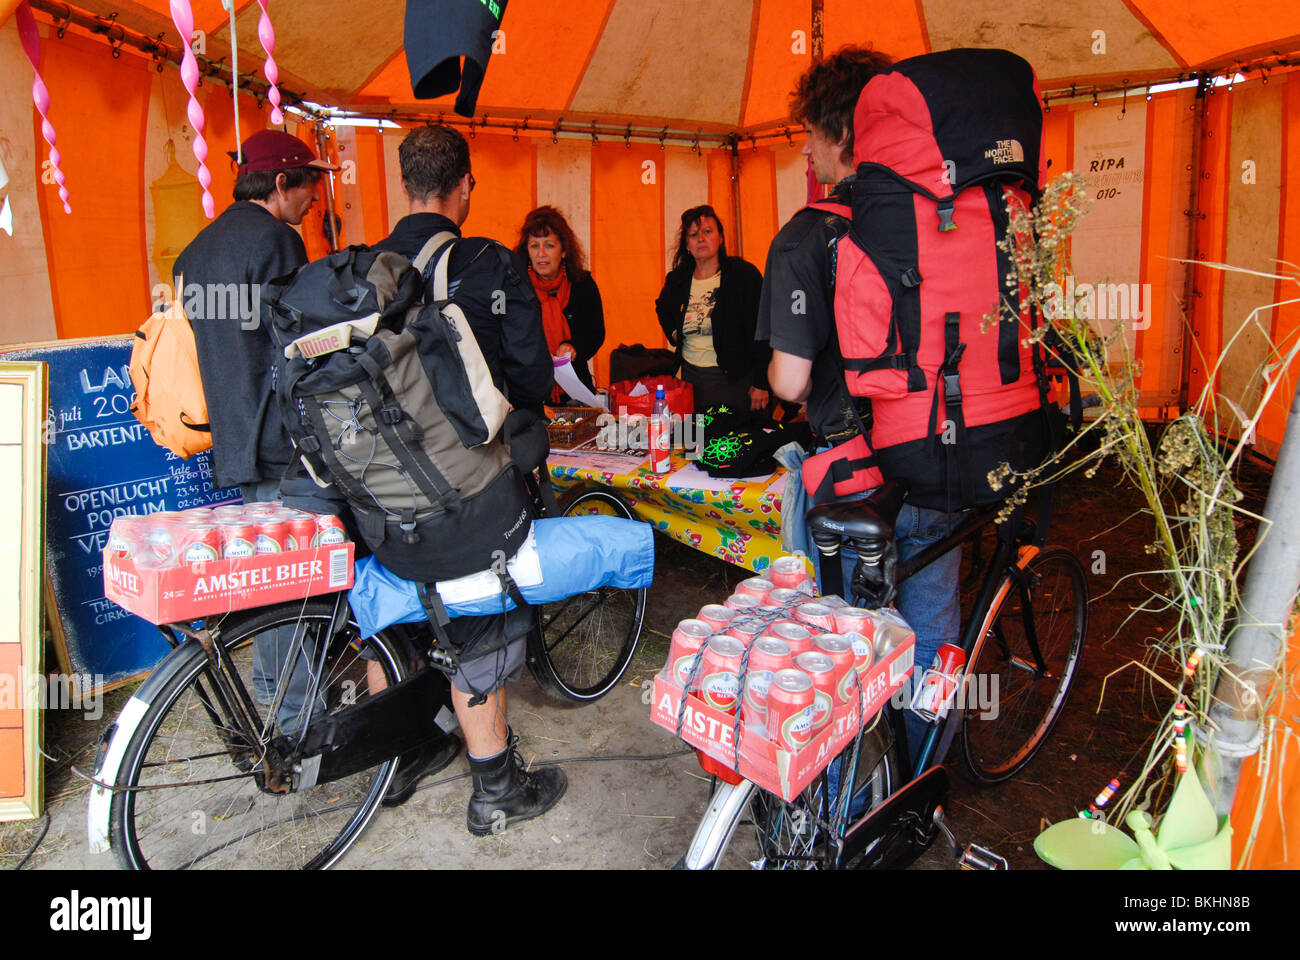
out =
<path fill-rule="evenodd" d="M 849 392 L 871 398 L 880 470 L 911 483 L 913 503 L 996 502 L 1009 488 L 994 492 L 991 470 L 1048 451 L 1043 358 L 1024 343 L 1034 317 L 997 247 L 1008 202 L 1039 191 L 1041 138 L 1034 70 L 1008 51 L 904 60 L 858 99 L 836 328 Z M 1019 320 L 985 323 L 1004 299 Z"/>

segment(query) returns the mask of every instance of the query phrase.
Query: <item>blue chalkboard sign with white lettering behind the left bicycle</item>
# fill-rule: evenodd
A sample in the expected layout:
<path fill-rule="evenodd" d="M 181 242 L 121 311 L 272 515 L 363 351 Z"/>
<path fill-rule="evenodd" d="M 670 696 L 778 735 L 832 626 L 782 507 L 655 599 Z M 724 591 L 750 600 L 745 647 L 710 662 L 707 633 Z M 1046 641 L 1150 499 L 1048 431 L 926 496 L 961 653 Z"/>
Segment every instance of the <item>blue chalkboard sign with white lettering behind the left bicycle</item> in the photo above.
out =
<path fill-rule="evenodd" d="M 169 648 L 156 627 L 104 597 L 113 518 L 238 501 L 239 490 L 213 489 L 207 453 L 182 460 L 131 414 L 130 337 L 34 343 L 0 358 L 48 364 L 46 570 L 60 666 L 96 688 L 118 684 Z"/>

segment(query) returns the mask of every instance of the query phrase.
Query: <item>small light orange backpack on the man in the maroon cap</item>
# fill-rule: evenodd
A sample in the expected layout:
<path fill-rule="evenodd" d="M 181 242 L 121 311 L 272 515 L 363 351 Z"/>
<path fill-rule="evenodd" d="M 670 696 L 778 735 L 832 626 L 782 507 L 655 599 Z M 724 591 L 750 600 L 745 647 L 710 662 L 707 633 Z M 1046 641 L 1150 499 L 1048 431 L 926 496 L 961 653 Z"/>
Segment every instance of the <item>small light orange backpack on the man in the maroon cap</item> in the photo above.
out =
<path fill-rule="evenodd" d="M 183 289 L 178 282 L 177 291 Z M 135 332 L 131 385 L 131 412 L 159 446 L 183 459 L 212 449 L 199 351 L 179 300 L 156 311 Z"/>

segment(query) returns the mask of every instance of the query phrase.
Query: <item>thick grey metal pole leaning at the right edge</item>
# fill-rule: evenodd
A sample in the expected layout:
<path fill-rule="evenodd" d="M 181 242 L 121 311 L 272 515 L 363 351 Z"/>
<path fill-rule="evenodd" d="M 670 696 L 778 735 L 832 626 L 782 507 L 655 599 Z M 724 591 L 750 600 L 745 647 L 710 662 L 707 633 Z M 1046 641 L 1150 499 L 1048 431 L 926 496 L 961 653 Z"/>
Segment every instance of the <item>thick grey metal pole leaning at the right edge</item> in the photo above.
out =
<path fill-rule="evenodd" d="M 1287 626 L 1300 591 L 1300 388 L 1291 399 L 1287 429 L 1264 505 L 1264 531 L 1251 558 L 1238 622 L 1227 641 L 1230 666 L 1219 674 L 1210 723 L 1219 762 L 1210 771 L 1219 816 L 1232 810 L 1242 761 L 1264 739 L 1260 714 L 1284 650 Z"/>

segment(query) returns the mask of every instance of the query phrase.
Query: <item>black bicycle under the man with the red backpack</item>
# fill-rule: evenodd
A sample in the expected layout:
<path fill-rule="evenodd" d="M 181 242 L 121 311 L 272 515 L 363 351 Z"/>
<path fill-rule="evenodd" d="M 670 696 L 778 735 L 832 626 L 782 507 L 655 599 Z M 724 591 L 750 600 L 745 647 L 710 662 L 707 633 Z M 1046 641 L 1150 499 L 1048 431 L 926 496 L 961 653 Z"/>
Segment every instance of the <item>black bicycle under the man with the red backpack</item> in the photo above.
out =
<path fill-rule="evenodd" d="M 948 537 L 900 565 L 893 524 L 904 494 L 905 488 L 885 484 L 866 500 L 809 511 L 826 592 L 838 592 L 838 553 L 848 542 L 858 554 L 854 600 L 863 606 L 887 606 L 907 576 L 966 541 L 979 544 L 998 514 L 997 506 L 972 511 Z M 972 571 L 979 562 L 976 557 Z M 998 527 L 997 546 L 963 620 L 959 644 L 967 654 L 966 678 L 997 678 L 997 717 L 979 719 L 974 709 L 954 704 L 927 725 L 913 767 L 902 708 L 890 701 L 832 761 L 832 766 L 838 765 L 838 790 L 832 790 L 829 767 L 789 803 L 750 780 L 718 783 L 677 866 L 718 869 L 746 821 L 754 826 L 758 853 L 750 865 L 763 869 L 901 868 L 940 833 L 956 851 L 942 817 L 948 796 L 942 762 L 949 748 L 959 740 L 962 770 L 978 783 L 1001 783 L 1024 767 L 1061 715 L 1087 627 L 1083 566 L 1066 549 L 1043 549 L 1035 524 L 1017 511 Z M 866 813 L 852 817 L 850 804 L 863 800 Z M 974 847 L 965 857 L 965 865 L 975 866 L 996 860 L 996 855 Z"/>

